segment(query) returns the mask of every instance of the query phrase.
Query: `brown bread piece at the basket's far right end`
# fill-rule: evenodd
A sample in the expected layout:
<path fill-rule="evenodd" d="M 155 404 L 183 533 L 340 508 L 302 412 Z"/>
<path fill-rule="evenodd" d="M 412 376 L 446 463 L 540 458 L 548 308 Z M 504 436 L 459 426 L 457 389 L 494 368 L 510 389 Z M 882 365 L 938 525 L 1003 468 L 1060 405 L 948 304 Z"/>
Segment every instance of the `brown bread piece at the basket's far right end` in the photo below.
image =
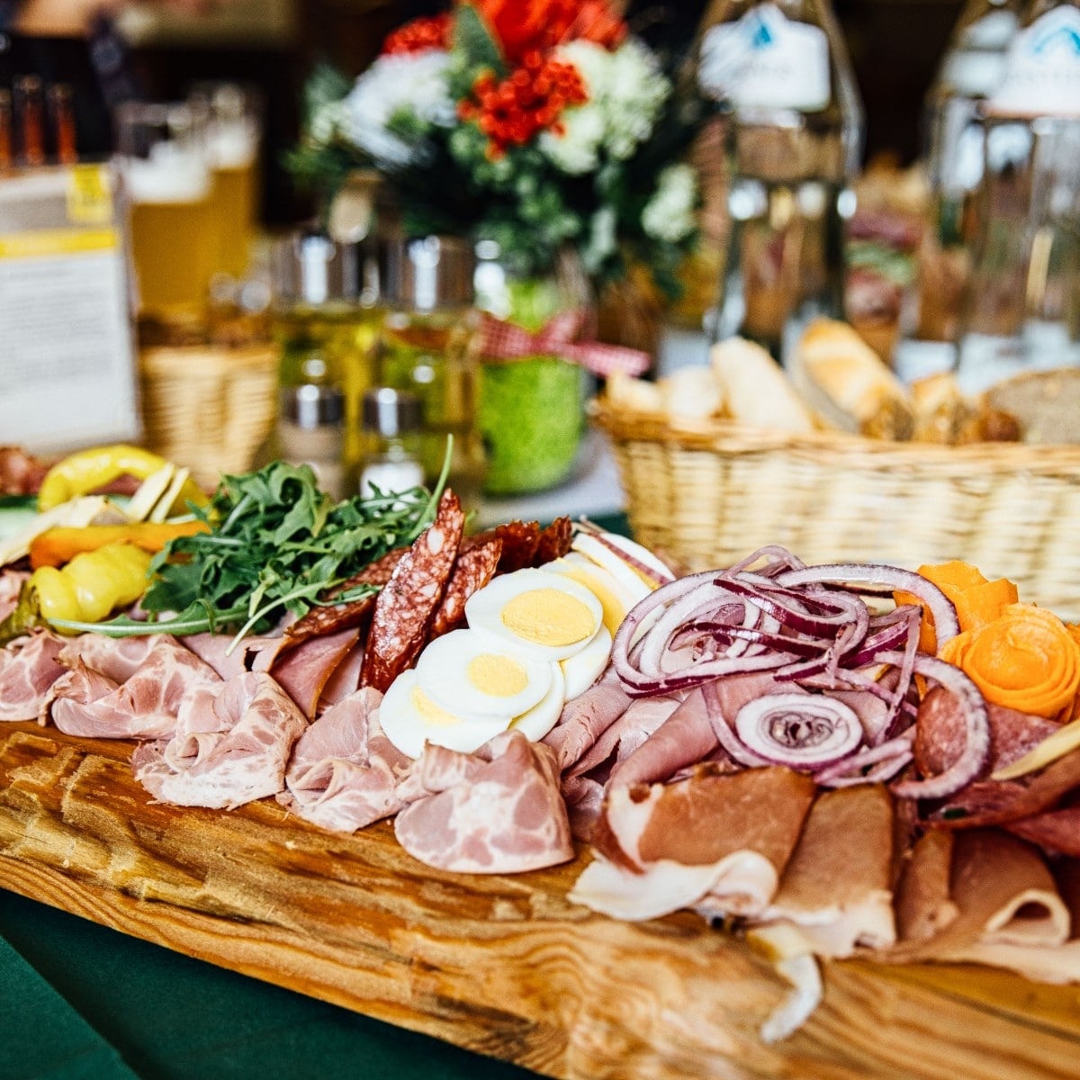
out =
<path fill-rule="evenodd" d="M 1025 443 L 1080 443 L 1080 368 L 1014 375 L 990 387 L 982 406 L 999 438 L 1012 419 Z"/>

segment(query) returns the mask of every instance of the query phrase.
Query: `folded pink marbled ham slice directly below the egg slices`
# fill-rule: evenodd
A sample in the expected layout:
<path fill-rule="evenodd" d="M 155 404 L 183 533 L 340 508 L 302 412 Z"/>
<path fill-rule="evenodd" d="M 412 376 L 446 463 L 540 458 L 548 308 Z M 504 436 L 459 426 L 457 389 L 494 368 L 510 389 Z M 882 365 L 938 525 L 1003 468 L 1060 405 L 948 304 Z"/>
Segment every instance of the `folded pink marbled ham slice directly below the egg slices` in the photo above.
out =
<path fill-rule="evenodd" d="M 475 759 L 463 770 L 470 775 L 394 820 L 394 835 L 410 855 L 461 874 L 515 874 L 573 858 L 551 750 L 507 731 L 461 756 Z"/>

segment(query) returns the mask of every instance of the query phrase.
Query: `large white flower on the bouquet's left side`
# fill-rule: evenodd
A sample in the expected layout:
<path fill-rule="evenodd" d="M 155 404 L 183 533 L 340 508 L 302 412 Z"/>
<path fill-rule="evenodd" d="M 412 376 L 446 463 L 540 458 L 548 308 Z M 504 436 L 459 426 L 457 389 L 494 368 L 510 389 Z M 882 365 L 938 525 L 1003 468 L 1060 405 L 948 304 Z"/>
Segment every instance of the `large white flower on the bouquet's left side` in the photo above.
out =
<path fill-rule="evenodd" d="M 454 102 L 446 80 L 448 54 L 442 49 L 380 56 L 356 80 L 345 102 L 343 135 L 377 163 L 407 165 L 423 152 L 422 143 L 406 141 L 389 131 L 395 117 L 422 126 L 450 127 Z"/>

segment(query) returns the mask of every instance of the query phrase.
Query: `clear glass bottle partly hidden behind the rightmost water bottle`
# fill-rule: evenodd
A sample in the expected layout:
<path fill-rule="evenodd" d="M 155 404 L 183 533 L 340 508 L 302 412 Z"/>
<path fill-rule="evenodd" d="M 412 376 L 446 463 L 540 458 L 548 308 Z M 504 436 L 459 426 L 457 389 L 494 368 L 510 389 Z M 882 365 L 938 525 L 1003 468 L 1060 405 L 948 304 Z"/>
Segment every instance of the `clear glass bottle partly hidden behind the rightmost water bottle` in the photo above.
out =
<path fill-rule="evenodd" d="M 917 337 L 956 341 L 957 316 L 971 272 L 974 195 L 983 172 L 980 104 L 1001 84 L 1005 53 L 1024 0 L 968 0 L 927 94 L 923 152 L 932 207 L 919 259 Z M 946 356 L 947 363 L 947 356 Z"/>

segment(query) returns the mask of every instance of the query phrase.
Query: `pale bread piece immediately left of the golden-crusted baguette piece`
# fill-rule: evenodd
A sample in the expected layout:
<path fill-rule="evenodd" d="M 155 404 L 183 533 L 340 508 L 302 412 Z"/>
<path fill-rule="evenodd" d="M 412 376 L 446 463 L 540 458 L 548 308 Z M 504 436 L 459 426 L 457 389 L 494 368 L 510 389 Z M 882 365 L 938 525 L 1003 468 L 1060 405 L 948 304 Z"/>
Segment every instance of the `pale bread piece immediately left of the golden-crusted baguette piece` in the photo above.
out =
<path fill-rule="evenodd" d="M 760 346 L 743 338 L 728 338 L 713 346 L 710 364 L 732 420 L 799 434 L 815 430 L 810 410 Z"/>

